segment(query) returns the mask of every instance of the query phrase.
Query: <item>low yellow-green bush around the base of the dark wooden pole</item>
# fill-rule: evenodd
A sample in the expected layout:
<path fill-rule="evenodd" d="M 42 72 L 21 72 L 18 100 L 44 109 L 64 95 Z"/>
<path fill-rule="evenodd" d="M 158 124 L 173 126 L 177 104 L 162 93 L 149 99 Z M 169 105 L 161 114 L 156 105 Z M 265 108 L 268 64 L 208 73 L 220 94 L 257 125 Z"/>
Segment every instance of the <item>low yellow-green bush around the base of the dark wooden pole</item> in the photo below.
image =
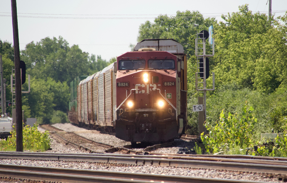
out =
<path fill-rule="evenodd" d="M 32 127 L 27 125 L 23 128 L 23 149 L 32 151 L 46 151 L 50 148 L 51 139 L 48 131 L 41 133 L 38 131 L 38 124 L 35 123 Z M 13 126 L 14 127 L 14 126 Z M 16 150 L 16 130 L 11 131 L 11 137 L 7 140 L 0 141 L 1 150 Z"/>

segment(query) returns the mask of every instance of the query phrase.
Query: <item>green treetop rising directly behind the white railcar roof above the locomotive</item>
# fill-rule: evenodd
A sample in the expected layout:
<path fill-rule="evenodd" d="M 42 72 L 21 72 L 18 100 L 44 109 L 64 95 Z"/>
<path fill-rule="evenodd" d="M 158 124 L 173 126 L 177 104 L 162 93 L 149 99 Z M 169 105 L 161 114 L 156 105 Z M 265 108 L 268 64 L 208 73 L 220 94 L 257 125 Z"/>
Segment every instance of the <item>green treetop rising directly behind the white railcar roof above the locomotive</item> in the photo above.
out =
<path fill-rule="evenodd" d="M 146 21 L 139 26 L 137 41 L 144 39 L 174 39 L 185 48 L 187 56 L 195 54 L 195 38 L 197 31 L 208 30 L 215 25 L 215 18 L 203 18 L 199 11 L 177 11 L 177 15 L 168 17 L 159 15 L 154 23 Z"/>

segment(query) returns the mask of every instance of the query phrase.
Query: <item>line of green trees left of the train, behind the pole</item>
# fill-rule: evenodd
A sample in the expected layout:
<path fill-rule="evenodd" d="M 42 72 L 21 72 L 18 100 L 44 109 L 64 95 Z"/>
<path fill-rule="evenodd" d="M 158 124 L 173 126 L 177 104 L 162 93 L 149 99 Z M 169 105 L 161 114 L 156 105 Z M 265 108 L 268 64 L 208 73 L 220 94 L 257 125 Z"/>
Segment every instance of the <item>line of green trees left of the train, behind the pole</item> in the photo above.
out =
<path fill-rule="evenodd" d="M 10 75 L 14 67 L 14 51 L 11 43 L 0 40 L 3 56 L 3 72 L 6 78 L 6 100 L 12 100 Z M 83 52 L 78 45 L 69 46 L 61 36 L 47 37 L 39 42 L 30 42 L 21 50 L 20 59 L 26 63 L 26 74 L 30 74 L 30 93 L 22 94 L 24 119 L 37 118 L 38 123 L 68 122 L 69 83 L 76 76 L 91 75 L 115 62 L 106 61 L 100 55 Z M 28 82 L 22 86 L 28 90 Z M 6 112 L 11 113 L 11 106 Z"/>

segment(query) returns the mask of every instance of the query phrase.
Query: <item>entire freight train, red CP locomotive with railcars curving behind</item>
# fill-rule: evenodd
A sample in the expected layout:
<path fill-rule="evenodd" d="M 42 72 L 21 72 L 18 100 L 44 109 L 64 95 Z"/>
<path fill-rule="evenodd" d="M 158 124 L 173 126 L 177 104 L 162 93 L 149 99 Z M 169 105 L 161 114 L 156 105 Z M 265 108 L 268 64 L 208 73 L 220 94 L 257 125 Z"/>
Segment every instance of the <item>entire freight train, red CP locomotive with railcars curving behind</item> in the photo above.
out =
<path fill-rule="evenodd" d="M 187 60 L 172 39 L 139 42 L 91 76 L 71 82 L 69 120 L 125 141 L 166 142 L 187 124 Z"/>

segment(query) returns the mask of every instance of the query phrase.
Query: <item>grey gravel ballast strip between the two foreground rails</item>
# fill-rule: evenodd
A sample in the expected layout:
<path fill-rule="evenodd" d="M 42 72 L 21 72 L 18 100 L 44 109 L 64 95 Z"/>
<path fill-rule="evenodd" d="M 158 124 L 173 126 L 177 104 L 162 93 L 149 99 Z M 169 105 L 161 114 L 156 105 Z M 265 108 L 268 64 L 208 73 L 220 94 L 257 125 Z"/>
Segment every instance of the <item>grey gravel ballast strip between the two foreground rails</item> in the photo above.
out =
<path fill-rule="evenodd" d="M 234 171 L 219 171 L 210 169 L 193 169 L 181 167 L 164 167 L 164 166 L 118 166 L 113 164 L 98 164 L 89 162 L 68 162 L 68 161 L 41 161 L 41 160 L 7 160 L 1 159 L 2 164 L 16 164 L 27 166 L 44 166 L 55 168 L 77 168 L 88 170 L 105 170 L 116 172 L 131 172 L 144 174 L 161 174 L 161 175 L 176 175 L 176 176 L 192 176 L 205 178 L 221 178 L 234 180 L 252 180 L 264 182 L 280 182 L 276 178 L 264 178 L 266 174 L 234 172 Z"/>

